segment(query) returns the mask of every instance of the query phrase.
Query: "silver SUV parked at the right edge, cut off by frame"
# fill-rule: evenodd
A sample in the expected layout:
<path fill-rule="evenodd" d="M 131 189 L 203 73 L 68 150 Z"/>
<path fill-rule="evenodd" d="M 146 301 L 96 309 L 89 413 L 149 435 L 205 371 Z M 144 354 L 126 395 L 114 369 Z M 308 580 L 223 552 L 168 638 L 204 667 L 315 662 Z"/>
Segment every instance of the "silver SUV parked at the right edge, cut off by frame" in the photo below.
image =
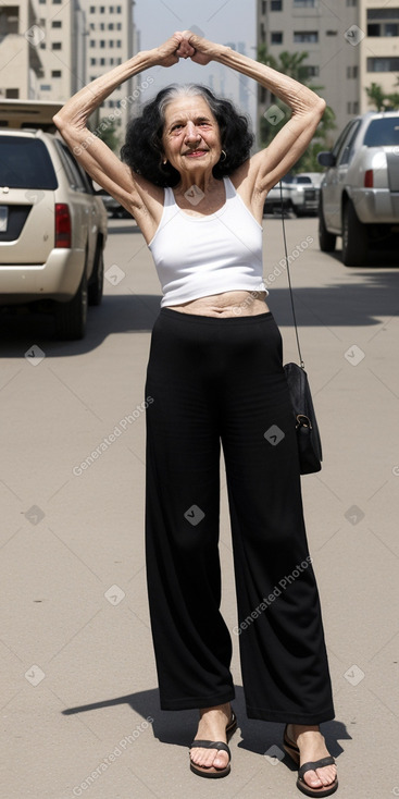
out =
<path fill-rule="evenodd" d="M 391 246 L 399 232 L 399 111 L 350 120 L 331 152 L 321 185 L 319 242 L 324 253 L 342 236 L 346 266 L 366 262 L 369 248 Z"/>

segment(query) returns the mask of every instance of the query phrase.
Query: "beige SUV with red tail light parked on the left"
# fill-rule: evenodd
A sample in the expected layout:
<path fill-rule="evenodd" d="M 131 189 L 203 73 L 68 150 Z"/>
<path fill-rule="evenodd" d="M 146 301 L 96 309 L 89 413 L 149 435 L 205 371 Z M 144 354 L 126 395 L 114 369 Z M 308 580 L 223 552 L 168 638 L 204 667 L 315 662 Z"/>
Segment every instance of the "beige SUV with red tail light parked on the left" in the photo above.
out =
<path fill-rule="evenodd" d="M 60 339 L 82 339 L 100 305 L 107 211 L 59 135 L 0 130 L 0 305 L 51 309 Z"/>

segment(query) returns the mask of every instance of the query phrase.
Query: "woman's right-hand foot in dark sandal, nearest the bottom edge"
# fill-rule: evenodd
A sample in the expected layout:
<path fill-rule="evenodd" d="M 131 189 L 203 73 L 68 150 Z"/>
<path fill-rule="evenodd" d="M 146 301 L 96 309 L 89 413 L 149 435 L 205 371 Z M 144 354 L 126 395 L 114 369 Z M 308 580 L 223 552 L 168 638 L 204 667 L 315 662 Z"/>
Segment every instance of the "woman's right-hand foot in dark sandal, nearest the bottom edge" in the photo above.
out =
<path fill-rule="evenodd" d="M 331 757 L 324 736 L 316 725 L 287 724 L 285 738 L 286 743 L 292 745 L 291 751 L 288 746 L 289 754 L 300 766 Z M 329 796 L 338 787 L 337 766 L 332 763 L 315 770 L 307 770 L 299 776 L 297 785 L 308 796 Z"/>

